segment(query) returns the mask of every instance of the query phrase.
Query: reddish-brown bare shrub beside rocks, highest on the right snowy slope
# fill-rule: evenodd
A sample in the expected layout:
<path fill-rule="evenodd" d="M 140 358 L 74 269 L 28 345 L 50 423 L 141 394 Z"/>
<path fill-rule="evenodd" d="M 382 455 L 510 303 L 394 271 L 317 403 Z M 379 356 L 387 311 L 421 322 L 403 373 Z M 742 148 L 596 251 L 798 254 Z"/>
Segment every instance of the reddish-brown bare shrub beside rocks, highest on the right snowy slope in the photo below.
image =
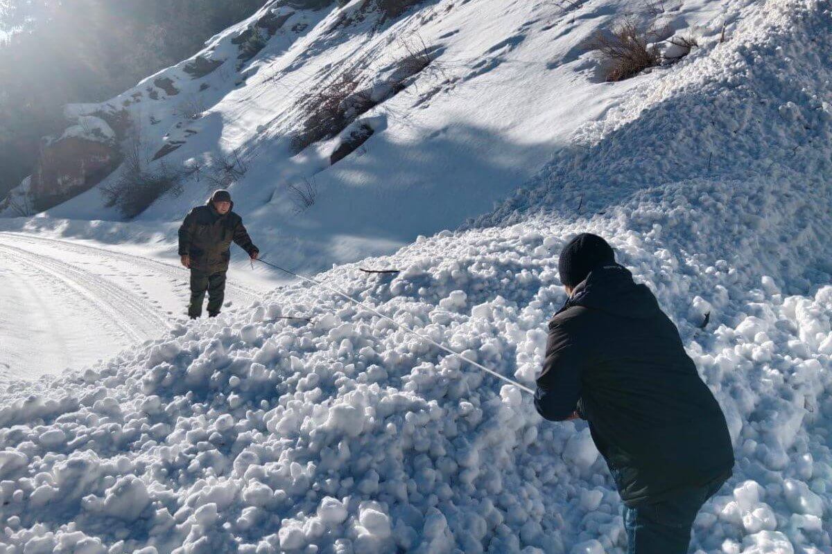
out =
<path fill-rule="evenodd" d="M 601 53 L 607 64 L 607 81 L 623 81 L 658 65 L 659 51 L 650 45 L 659 34 L 655 28 L 639 24 L 636 17 L 627 17 L 611 31 L 597 32 L 589 49 Z"/>

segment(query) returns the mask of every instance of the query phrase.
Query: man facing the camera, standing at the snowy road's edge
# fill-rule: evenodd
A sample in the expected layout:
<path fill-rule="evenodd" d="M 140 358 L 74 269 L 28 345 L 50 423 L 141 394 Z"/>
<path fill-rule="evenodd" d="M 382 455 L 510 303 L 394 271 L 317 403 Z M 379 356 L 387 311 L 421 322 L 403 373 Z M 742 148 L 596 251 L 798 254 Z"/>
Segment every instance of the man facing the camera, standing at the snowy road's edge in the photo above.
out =
<path fill-rule="evenodd" d="M 211 194 L 205 206 L 191 209 L 179 228 L 179 255 L 182 265 L 191 270 L 191 302 L 188 316 L 202 315 L 202 302 L 208 292 L 208 316 L 220 313 L 225 297 L 225 272 L 234 241 L 256 260 L 260 250 L 251 243 L 243 218 L 231 211 L 234 203 L 227 190 Z"/>

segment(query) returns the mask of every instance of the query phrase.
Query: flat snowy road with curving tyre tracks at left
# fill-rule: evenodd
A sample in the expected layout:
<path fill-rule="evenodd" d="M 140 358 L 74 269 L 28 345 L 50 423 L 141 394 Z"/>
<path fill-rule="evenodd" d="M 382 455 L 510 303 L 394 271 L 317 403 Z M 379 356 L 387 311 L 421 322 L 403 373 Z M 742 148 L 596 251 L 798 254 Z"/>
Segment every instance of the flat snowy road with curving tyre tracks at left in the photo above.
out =
<path fill-rule="evenodd" d="M 187 278 L 150 257 L 0 233 L 0 380 L 82 368 L 159 336 L 184 318 Z M 225 300 L 257 296 L 229 282 Z"/>

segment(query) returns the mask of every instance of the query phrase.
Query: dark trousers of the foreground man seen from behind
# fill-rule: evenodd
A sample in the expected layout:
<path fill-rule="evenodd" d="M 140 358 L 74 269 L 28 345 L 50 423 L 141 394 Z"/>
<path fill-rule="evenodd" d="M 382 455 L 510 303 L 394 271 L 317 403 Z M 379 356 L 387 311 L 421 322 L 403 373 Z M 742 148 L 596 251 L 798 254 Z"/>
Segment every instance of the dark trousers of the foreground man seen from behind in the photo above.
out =
<path fill-rule="evenodd" d="M 718 479 L 657 503 L 624 507 L 627 554 L 687 554 L 696 513 L 725 483 Z"/>

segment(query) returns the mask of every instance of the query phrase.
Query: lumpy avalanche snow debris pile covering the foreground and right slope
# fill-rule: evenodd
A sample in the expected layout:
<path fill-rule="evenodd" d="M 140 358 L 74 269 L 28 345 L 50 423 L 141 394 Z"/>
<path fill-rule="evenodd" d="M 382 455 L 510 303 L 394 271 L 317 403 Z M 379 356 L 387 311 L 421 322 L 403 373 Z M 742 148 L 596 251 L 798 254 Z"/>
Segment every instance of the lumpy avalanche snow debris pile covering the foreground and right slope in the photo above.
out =
<path fill-rule="evenodd" d="M 552 211 L 513 199 L 492 217 L 514 223 L 372 261 L 396 276 L 343 266 L 319 279 L 530 384 L 565 299 L 557 252 L 574 233 L 602 234 L 656 292 L 726 412 L 735 474 L 692 547 L 830 552 L 830 28 L 830 2 L 748 7 L 729 41 L 672 68 L 608 127 L 590 125 L 604 135 L 587 158 L 554 160 L 527 192 Z M 627 148 L 603 138 L 622 132 Z M 693 170 L 698 141 L 729 145 L 710 173 Z M 618 179 L 594 181 L 596 169 Z M 584 214 L 572 191 L 586 194 Z M 313 321 L 280 319 L 300 314 Z M 586 424 L 542 422 L 516 387 L 303 284 L 80 374 L 5 385 L 0 425 L 0 552 L 625 543 Z"/>

